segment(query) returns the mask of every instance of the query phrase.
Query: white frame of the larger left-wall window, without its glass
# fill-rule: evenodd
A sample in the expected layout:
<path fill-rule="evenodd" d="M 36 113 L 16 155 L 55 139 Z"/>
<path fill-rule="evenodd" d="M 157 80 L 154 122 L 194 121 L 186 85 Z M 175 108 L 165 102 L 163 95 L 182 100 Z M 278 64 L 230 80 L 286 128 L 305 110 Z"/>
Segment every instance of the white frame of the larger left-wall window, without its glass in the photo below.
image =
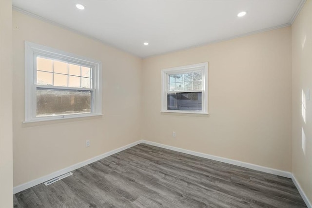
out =
<path fill-rule="evenodd" d="M 37 56 L 55 58 L 66 62 L 92 67 L 92 87 L 78 88 L 37 85 Z M 93 91 L 91 113 L 36 117 L 37 87 Z M 25 121 L 23 122 L 52 121 L 100 115 L 102 115 L 102 63 L 100 61 L 25 41 Z"/>

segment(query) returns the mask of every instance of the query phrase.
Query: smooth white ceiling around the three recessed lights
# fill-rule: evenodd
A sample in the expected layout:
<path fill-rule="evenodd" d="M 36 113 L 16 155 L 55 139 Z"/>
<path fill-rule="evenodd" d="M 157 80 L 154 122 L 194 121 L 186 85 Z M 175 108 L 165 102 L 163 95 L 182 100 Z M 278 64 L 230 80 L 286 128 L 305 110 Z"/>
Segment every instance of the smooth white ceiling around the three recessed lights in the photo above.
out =
<path fill-rule="evenodd" d="M 13 0 L 43 17 L 140 57 L 292 22 L 304 0 Z M 76 3 L 85 6 L 78 10 Z M 237 17 L 247 11 L 245 17 Z M 149 42 L 144 46 L 144 42 Z"/>

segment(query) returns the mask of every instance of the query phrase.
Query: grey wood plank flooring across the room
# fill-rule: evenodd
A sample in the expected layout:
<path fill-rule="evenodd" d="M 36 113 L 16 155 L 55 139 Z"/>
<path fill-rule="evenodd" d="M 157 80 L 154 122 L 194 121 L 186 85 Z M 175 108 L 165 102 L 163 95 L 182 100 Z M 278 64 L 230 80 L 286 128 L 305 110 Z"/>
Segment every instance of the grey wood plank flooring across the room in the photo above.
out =
<path fill-rule="evenodd" d="M 15 208 L 306 208 L 292 180 L 139 144 L 16 193 Z"/>

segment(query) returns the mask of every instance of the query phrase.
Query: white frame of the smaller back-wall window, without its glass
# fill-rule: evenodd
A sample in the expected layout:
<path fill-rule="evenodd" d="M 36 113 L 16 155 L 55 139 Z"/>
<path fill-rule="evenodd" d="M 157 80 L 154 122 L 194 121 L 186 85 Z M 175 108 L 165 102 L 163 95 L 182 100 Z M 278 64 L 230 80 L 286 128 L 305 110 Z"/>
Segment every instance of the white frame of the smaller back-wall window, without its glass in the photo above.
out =
<path fill-rule="evenodd" d="M 185 73 L 189 71 L 202 70 L 202 85 L 201 90 L 183 90 L 183 91 L 169 91 L 168 79 L 171 74 Z M 161 70 L 161 112 L 167 113 L 192 113 L 192 114 L 208 114 L 208 62 L 174 67 Z M 167 93 L 169 92 L 202 92 L 202 107 L 201 110 L 168 110 L 167 109 Z"/>

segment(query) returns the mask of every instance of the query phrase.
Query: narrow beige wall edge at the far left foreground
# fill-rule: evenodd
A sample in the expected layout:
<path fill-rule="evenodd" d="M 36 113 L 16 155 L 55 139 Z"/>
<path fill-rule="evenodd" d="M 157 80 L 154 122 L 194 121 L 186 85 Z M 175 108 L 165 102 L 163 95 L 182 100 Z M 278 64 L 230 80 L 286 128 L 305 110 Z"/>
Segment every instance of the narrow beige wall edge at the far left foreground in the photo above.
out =
<path fill-rule="evenodd" d="M 0 0 L 0 207 L 13 207 L 12 1 Z"/>

